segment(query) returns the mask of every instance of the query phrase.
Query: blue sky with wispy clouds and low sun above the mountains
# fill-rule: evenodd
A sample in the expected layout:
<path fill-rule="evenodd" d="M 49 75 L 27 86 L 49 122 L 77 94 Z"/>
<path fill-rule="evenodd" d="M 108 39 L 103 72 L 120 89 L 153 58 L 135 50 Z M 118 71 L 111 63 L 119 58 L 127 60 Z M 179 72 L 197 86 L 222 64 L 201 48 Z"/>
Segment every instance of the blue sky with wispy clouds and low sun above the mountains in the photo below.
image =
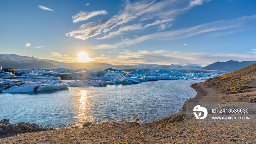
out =
<path fill-rule="evenodd" d="M 255 61 L 255 7 L 255 0 L 1 0 L 0 53 L 61 62 L 88 55 L 114 65 Z"/>

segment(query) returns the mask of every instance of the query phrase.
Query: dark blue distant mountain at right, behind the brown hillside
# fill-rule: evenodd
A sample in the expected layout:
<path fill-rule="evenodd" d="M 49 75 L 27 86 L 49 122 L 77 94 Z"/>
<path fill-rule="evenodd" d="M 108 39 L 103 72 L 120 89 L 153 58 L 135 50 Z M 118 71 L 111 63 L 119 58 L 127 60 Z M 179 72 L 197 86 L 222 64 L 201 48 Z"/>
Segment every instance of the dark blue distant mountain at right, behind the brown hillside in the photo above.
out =
<path fill-rule="evenodd" d="M 201 69 L 207 70 L 216 70 L 216 71 L 226 71 L 226 72 L 233 72 L 237 69 L 241 69 L 247 67 L 248 65 L 255 64 L 256 61 L 226 61 L 226 62 L 214 62 L 213 64 L 207 65 Z"/>

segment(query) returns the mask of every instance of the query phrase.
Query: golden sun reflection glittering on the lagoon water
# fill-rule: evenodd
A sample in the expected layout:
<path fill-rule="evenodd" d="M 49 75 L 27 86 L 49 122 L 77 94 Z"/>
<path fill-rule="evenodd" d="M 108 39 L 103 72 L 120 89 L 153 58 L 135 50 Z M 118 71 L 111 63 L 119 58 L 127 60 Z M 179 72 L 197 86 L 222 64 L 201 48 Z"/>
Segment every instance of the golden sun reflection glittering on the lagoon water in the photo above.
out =
<path fill-rule="evenodd" d="M 78 110 L 78 122 L 79 127 L 82 127 L 84 122 L 93 122 L 95 117 L 90 115 L 91 113 L 91 91 L 89 90 L 79 90 L 76 99 L 76 107 Z"/>

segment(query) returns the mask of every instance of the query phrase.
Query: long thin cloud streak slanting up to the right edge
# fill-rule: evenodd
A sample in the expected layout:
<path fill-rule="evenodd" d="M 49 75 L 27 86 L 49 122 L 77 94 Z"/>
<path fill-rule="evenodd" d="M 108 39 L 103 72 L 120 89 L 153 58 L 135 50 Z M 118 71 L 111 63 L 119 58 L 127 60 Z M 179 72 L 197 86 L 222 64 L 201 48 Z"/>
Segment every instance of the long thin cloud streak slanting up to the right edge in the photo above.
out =
<path fill-rule="evenodd" d="M 112 48 L 121 48 L 124 46 L 134 45 L 139 42 L 147 41 L 149 39 L 154 40 L 175 40 L 182 39 L 187 37 L 192 37 L 194 35 L 209 33 L 214 31 L 222 31 L 227 29 L 236 29 L 238 27 L 242 27 L 247 20 L 256 19 L 256 15 L 254 16 L 243 16 L 237 19 L 231 20 L 220 20 L 216 22 L 210 22 L 205 24 L 200 24 L 198 26 L 180 29 L 180 30 L 172 30 L 172 31 L 164 31 L 153 33 L 149 35 L 144 35 L 142 37 L 137 37 L 135 39 L 127 39 L 126 41 L 122 41 L 115 44 L 102 44 L 97 46 L 92 46 L 92 49 L 112 49 Z"/>

